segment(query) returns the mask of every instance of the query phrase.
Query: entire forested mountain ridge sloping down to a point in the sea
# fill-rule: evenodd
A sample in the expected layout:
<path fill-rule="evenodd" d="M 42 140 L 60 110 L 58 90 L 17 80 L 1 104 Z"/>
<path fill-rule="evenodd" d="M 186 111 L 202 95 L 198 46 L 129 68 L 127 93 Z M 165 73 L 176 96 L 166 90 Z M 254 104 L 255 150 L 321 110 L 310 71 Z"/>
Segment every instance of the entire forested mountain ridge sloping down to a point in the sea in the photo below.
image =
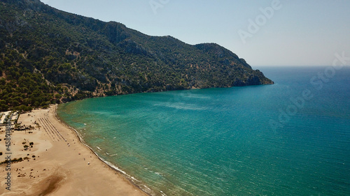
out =
<path fill-rule="evenodd" d="M 0 111 L 82 98 L 272 84 L 214 43 L 188 45 L 50 8 L 0 3 Z"/>

